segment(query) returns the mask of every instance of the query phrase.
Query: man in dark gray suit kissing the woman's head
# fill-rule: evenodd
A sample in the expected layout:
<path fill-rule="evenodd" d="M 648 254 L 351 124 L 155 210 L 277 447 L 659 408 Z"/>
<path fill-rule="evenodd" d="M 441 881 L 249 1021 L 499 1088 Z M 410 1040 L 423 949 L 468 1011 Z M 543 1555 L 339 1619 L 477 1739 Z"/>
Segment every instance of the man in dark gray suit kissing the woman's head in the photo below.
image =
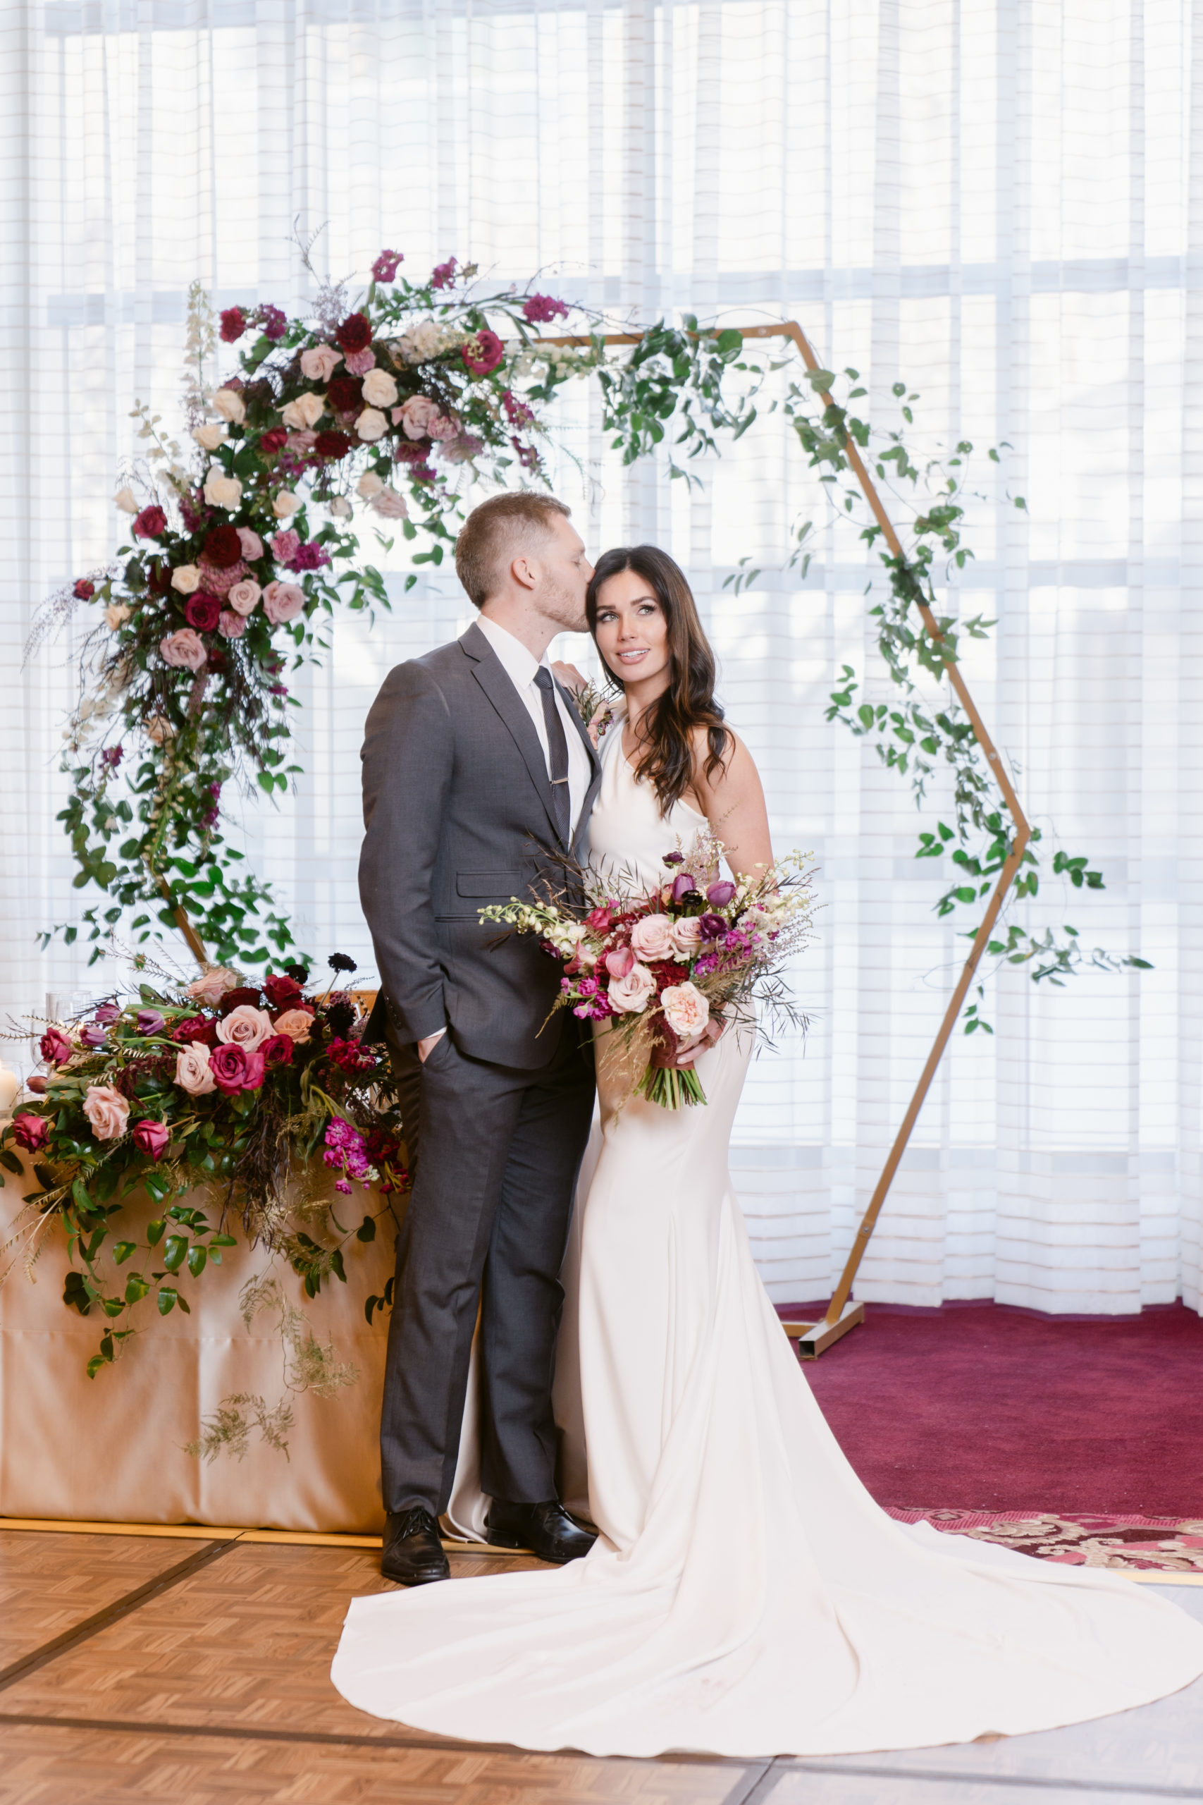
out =
<path fill-rule="evenodd" d="M 397 1242 L 384 1370 L 382 1572 L 445 1579 L 480 1307 L 489 1541 L 570 1561 L 593 1538 L 556 1496 L 559 1264 L 593 1112 L 592 1043 L 559 967 L 478 910 L 584 857 L 601 767 L 546 648 L 584 628 L 592 567 L 568 509 L 494 495 L 456 542 L 480 608 L 462 639 L 390 671 L 363 747 L 359 895 L 382 989 L 368 1038 L 399 1078 L 413 1193 Z"/>

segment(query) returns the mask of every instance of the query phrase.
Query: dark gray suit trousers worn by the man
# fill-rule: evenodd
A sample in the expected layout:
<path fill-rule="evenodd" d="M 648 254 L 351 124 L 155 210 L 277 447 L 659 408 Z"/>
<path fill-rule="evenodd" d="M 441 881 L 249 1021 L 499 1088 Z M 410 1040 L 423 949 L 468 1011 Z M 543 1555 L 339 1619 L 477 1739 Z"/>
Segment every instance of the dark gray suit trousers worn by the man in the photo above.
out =
<path fill-rule="evenodd" d="M 482 1487 L 556 1496 L 552 1368 L 559 1267 L 593 1112 L 593 1049 L 557 1016 L 548 1065 L 471 1060 L 444 1034 L 426 1065 L 390 1032 L 413 1193 L 397 1236 L 381 1467 L 384 1509 L 451 1498 L 480 1300 Z M 417 1125 L 417 1134 L 413 1126 Z"/>

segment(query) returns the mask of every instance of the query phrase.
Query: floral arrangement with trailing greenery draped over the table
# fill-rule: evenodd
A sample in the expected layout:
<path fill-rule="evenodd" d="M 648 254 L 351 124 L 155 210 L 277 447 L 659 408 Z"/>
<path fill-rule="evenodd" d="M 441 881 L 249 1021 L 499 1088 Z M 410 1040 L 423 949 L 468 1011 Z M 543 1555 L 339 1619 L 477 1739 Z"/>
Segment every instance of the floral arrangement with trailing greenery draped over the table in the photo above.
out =
<path fill-rule="evenodd" d="M 168 978 L 146 955 L 135 964 Z M 341 953 L 330 966 L 355 969 Z M 22 1150 L 38 1182 L 9 1229 L 18 1253 L 0 1283 L 16 1260 L 32 1276 L 47 1229 L 63 1226 L 63 1303 L 105 1323 L 90 1377 L 139 1332 L 132 1318 L 148 1298 L 159 1316 L 189 1310 L 184 1280 L 222 1264 L 234 1226 L 271 1260 L 287 1260 L 316 1298 L 330 1274 L 346 1282 L 343 1249 L 375 1240 L 379 1217 L 408 1188 L 388 1052 L 361 1045 L 364 1016 L 352 993 L 312 995 L 307 982 L 303 966 L 258 982 L 209 967 L 188 986 L 142 982 L 137 1002 L 108 1000 L 88 1020 L 41 1034 L 49 1076 L 29 1079 L 34 1101 L 0 1132 L 0 1164 L 23 1177 Z M 372 1186 L 382 1199 L 359 1227 L 343 1227 L 335 1206 L 310 1189 L 319 1150 L 335 1193 Z M 197 1188 L 209 1191 L 215 1222 L 186 1202 Z M 133 1193 L 155 1209 L 141 1238 L 128 1238 L 139 1229 L 123 1217 Z M 285 1300 L 271 1264 L 243 1287 L 242 1305 L 247 1327 L 263 1307 L 280 1312 L 289 1392 L 330 1395 L 355 1381 Z M 218 1406 L 193 1451 L 245 1453 L 251 1424 L 287 1451 L 290 1422 L 287 1399 L 269 1408 L 240 1393 Z"/>

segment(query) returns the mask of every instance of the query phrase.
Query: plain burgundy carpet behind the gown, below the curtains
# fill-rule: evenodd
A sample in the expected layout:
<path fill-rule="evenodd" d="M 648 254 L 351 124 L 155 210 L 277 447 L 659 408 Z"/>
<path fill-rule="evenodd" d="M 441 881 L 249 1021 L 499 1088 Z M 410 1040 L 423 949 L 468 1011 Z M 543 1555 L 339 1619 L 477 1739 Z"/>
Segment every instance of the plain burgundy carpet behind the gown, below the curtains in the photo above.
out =
<path fill-rule="evenodd" d="M 869 1303 L 803 1372 L 878 1504 L 1203 1518 L 1203 1318 L 1181 1303 L 1118 1318 Z"/>

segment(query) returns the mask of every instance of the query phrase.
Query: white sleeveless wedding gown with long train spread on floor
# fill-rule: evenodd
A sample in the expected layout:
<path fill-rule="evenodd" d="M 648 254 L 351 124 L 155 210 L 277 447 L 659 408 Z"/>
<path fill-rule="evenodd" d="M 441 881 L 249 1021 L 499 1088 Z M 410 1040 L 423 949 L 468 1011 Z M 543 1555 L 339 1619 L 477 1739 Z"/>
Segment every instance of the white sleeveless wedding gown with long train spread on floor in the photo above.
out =
<path fill-rule="evenodd" d="M 680 803 L 660 819 L 620 740 L 615 726 L 602 742 L 593 863 L 651 886 L 705 823 Z M 602 1078 L 557 1372 L 568 1440 L 583 1415 L 593 1550 L 355 1599 L 337 1689 L 474 1742 L 770 1756 L 1048 1729 L 1189 1684 L 1203 1626 L 1178 1606 L 1118 1574 L 895 1523 L 869 1498 L 730 1188 L 750 1052 L 729 1032 L 700 1058 L 705 1108 L 619 1110 Z M 480 1532 L 473 1430 L 469 1402 L 451 1514 Z"/>

